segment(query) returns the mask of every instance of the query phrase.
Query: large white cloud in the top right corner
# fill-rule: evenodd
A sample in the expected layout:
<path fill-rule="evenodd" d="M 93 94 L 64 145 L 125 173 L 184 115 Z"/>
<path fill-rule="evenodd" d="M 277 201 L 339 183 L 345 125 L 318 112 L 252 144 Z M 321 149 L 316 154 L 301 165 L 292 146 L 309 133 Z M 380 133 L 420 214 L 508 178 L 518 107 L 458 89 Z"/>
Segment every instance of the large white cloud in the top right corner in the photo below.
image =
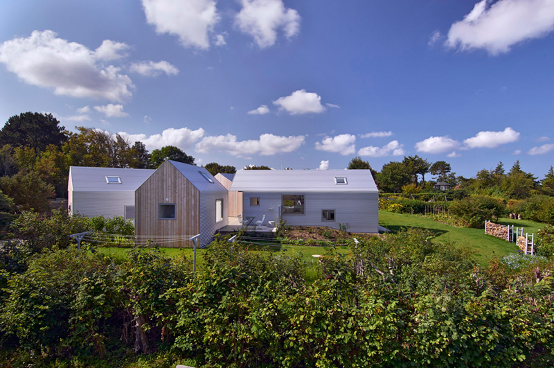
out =
<path fill-rule="evenodd" d="M 553 30 L 552 0 L 482 0 L 463 20 L 452 24 L 446 44 L 462 50 L 484 49 L 497 55 Z"/>

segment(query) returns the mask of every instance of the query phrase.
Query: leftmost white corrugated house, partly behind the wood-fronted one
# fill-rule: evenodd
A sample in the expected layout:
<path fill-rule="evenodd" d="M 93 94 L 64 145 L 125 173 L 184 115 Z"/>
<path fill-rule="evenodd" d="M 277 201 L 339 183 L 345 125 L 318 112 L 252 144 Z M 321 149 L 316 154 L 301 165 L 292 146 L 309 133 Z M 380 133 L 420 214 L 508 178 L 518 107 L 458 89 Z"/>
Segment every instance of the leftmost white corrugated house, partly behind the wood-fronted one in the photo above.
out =
<path fill-rule="evenodd" d="M 68 211 L 87 217 L 134 219 L 134 191 L 154 173 L 140 168 L 69 168 Z"/>

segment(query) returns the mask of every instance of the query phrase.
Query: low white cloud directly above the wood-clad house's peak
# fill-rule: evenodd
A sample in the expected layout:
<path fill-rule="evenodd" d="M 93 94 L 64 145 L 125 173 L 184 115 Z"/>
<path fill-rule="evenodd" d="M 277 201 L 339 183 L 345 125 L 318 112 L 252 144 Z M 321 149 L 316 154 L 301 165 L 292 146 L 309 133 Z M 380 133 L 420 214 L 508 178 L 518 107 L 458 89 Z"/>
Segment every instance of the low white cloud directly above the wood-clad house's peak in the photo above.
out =
<path fill-rule="evenodd" d="M 118 134 L 129 139 L 130 142 L 141 141 L 150 151 L 164 146 L 175 146 L 185 150 L 204 137 L 204 129 L 168 128 L 163 130 L 161 134 L 152 134 L 150 137 L 147 137 L 146 134 L 129 134 L 126 132 L 119 132 Z"/>

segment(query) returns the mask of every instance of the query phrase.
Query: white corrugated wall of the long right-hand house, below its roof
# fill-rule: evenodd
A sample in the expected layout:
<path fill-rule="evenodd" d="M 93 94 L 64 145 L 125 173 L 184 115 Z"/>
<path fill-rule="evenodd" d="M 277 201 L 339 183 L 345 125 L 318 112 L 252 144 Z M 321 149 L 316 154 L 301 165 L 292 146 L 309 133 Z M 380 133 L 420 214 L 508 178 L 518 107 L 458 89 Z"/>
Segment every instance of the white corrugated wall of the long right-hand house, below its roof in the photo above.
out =
<path fill-rule="evenodd" d="M 289 193 L 293 194 L 293 193 Z M 359 233 L 377 233 L 379 226 L 377 193 L 294 193 L 303 194 L 305 200 L 304 215 L 283 215 L 288 225 L 327 226 L 339 228 L 339 223 L 348 224 L 348 231 Z M 250 198 L 259 197 L 260 206 L 250 206 Z M 255 216 L 261 220 L 278 218 L 278 206 L 281 205 L 280 193 L 243 193 L 242 216 Z M 334 209 L 334 221 L 323 221 L 321 211 Z"/>

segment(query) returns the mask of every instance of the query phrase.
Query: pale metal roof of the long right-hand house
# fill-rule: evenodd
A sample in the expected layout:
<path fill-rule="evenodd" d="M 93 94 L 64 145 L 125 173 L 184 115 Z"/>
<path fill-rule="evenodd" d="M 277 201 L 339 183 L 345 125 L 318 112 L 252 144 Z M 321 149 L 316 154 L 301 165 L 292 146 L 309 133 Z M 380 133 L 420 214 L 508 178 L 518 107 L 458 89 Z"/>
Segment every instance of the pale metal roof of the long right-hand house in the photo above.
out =
<path fill-rule="evenodd" d="M 346 184 L 337 184 L 346 178 Z M 343 181 L 344 182 L 344 181 Z M 377 192 L 370 170 L 238 170 L 230 191 Z"/>

